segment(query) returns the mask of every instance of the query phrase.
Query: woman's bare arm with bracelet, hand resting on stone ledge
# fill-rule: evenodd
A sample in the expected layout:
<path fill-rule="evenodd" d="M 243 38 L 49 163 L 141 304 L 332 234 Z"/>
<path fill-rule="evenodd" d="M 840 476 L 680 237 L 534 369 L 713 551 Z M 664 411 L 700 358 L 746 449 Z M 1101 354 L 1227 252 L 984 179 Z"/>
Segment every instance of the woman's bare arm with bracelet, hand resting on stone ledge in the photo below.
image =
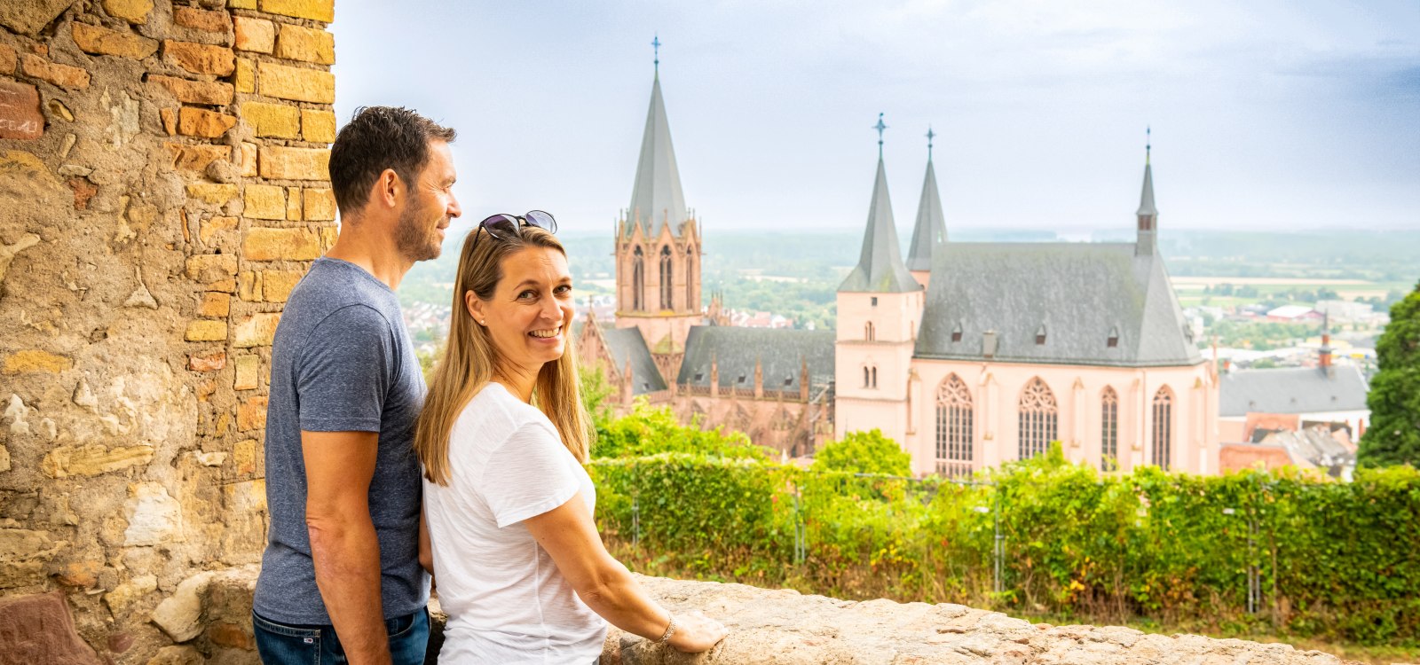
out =
<path fill-rule="evenodd" d="M 665 635 L 670 613 L 646 596 L 626 566 L 602 546 L 581 492 L 558 508 L 528 518 L 524 525 L 538 544 L 552 556 L 558 571 L 572 584 L 586 607 L 633 635 L 650 641 L 659 641 Z M 726 630 L 719 621 L 692 613 L 676 617 L 676 631 L 670 645 L 689 652 L 706 651 L 724 635 Z"/>

